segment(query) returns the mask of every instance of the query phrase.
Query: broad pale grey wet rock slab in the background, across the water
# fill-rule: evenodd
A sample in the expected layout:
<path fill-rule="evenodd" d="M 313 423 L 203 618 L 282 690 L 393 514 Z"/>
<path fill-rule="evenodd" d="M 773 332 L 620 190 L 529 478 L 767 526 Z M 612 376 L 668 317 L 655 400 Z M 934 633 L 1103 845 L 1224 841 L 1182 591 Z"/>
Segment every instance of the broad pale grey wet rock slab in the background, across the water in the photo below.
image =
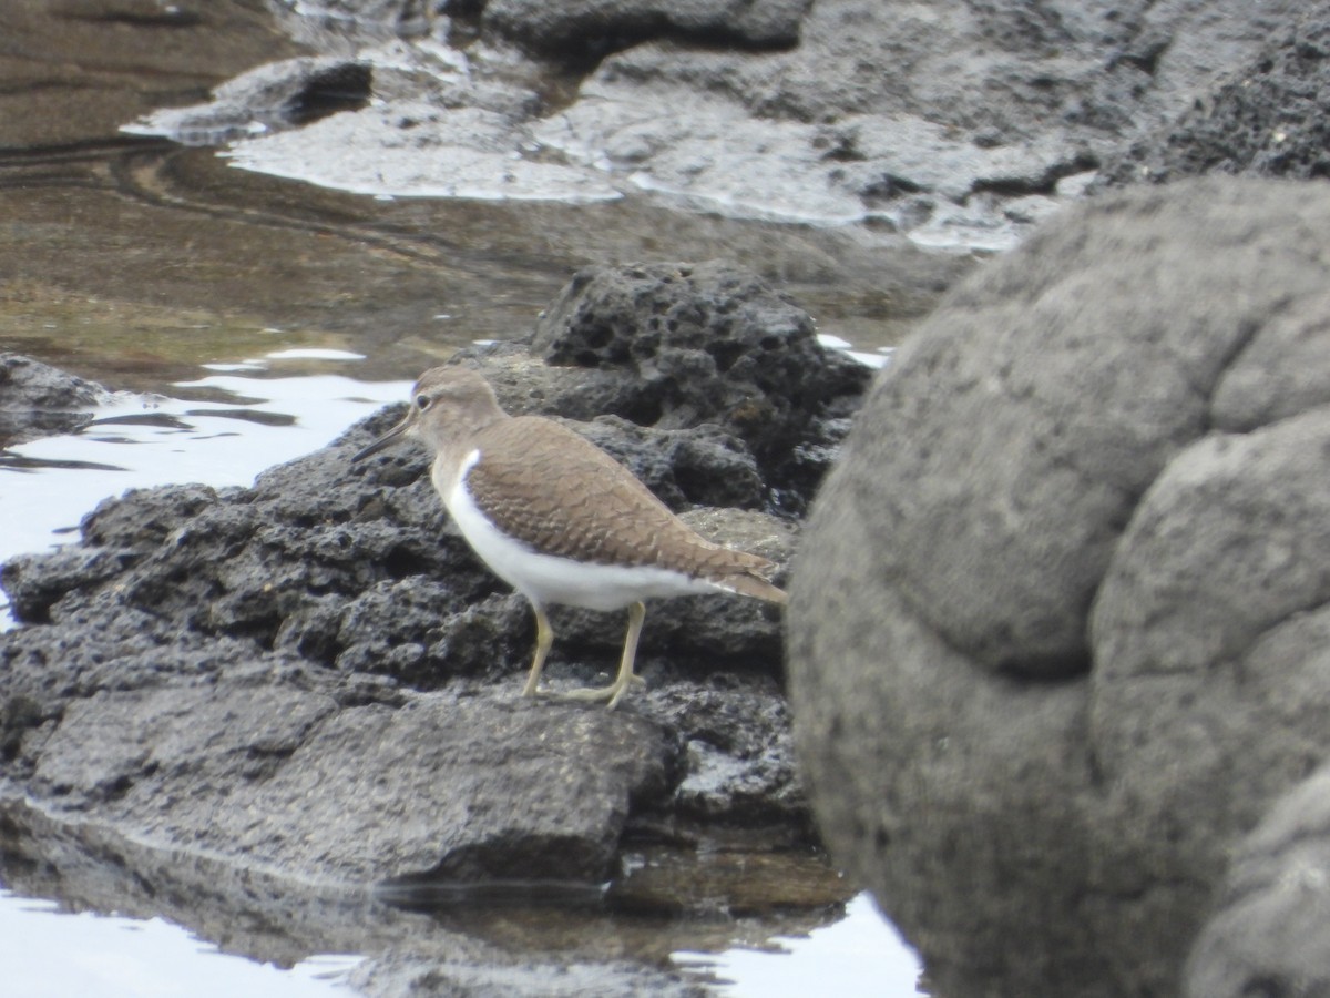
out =
<path fill-rule="evenodd" d="M 650 43 L 609 56 L 537 134 L 692 206 L 1005 248 L 1301 13 L 1291 0 L 819 0 L 789 52 Z"/>

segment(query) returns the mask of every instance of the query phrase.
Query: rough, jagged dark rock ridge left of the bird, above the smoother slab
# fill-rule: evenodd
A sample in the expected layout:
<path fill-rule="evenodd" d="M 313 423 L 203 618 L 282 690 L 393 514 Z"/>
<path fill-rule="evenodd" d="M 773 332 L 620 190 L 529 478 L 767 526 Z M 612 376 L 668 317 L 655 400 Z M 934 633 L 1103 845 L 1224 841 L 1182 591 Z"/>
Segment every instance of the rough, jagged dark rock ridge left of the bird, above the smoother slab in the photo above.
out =
<path fill-rule="evenodd" d="M 426 687 L 459 675 L 513 679 L 531 653 L 524 603 L 447 523 L 424 476 L 424 454 L 402 448 L 370 468 L 351 468 L 354 444 L 366 440 L 359 430 L 335 448 L 265 472 L 253 490 L 170 486 L 106 500 L 85 518 L 84 546 L 21 555 L 0 568 L 13 612 L 60 624 L 113 591 L 126 612 L 150 613 L 150 629 L 164 641 L 182 633 L 245 637 L 344 668 L 372 661 L 375 671 Z M 767 535 L 787 532 L 761 519 Z M 724 539 L 724 528 L 717 534 Z M 754 604 L 746 616 L 755 629 L 734 629 L 734 612 L 717 609 L 726 603 L 682 600 L 729 624 L 698 625 L 685 609 L 680 619 L 693 625 L 676 628 L 678 649 L 714 652 L 710 636 L 726 631 L 732 656 L 778 657 L 775 620 Z M 616 635 L 596 644 L 617 649 L 621 621 L 592 616 L 596 629 Z M 668 633 L 648 627 L 644 649 L 662 647 Z M 395 664 L 384 657 L 390 652 Z"/>

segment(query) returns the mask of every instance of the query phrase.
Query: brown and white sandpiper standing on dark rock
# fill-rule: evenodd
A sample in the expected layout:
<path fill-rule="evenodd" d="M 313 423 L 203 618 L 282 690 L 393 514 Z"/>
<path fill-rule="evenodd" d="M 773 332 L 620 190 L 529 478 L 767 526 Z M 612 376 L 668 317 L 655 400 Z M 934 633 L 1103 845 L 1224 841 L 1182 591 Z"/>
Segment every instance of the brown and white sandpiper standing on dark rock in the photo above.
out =
<path fill-rule="evenodd" d="M 555 639 L 549 604 L 628 609 L 614 680 L 561 695 L 613 709 L 630 687 L 645 685 L 633 664 L 648 599 L 726 592 L 786 601 L 770 582 L 773 562 L 706 540 L 573 430 L 509 415 L 479 371 L 443 366 L 422 374 L 407 415 L 351 460 L 407 439 L 434 452 L 430 478 L 471 550 L 535 612 L 523 696 L 545 693 L 540 676 Z"/>

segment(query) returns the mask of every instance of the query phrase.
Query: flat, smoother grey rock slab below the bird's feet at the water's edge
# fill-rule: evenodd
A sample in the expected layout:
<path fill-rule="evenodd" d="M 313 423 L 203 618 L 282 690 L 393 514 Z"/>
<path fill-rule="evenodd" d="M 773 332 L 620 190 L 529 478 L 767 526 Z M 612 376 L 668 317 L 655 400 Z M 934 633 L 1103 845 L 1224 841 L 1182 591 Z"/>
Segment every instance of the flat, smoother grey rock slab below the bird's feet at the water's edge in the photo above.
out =
<path fill-rule="evenodd" d="M 27 774 L 31 792 L 63 812 L 137 828 L 161 848 L 188 844 L 301 877 L 596 882 L 609 873 L 629 800 L 669 792 L 668 727 L 630 711 L 516 699 L 529 643 L 519 647 L 500 628 L 525 637 L 529 612 L 511 596 L 497 613 L 484 600 L 460 607 L 452 592 L 432 612 L 428 600 L 416 608 L 348 599 L 334 640 L 374 628 L 380 637 L 352 641 L 340 653 L 348 661 L 330 669 L 298 657 L 290 637 L 265 651 L 277 617 L 261 616 L 259 604 L 281 615 L 285 600 L 303 596 L 286 587 L 310 585 L 311 576 L 271 572 L 281 583 L 273 588 L 247 578 L 262 560 L 241 550 L 190 589 L 185 580 L 206 558 L 176 552 L 170 571 L 146 558 L 117 579 L 84 579 L 98 591 L 70 591 L 51 624 L 7 635 L 4 703 L 16 705 L 7 727 L 19 745 L 7 770 Z M 411 575 L 388 592 L 402 597 L 407 585 L 439 591 Z M 189 609 L 193 600 L 202 607 Z M 325 623 L 334 620 L 329 613 Z M 407 661 L 414 627 L 426 631 L 424 653 Z M 459 637 L 468 628 L 480 632 Z M 516 668 L 497 663 L 504 641 Z M 416 693 L 342 671 L 364 665 L 432 688 L 468 661 L 503 683 L 497 699 L 456 683 Z"/>

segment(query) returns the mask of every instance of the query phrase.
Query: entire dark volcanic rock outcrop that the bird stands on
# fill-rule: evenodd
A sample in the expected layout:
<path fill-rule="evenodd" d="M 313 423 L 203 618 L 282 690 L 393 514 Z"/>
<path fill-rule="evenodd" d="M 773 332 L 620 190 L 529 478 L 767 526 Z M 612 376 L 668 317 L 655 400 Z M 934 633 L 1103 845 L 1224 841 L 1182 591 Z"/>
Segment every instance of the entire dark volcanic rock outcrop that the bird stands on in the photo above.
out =
<path fill-rule="evenodd" d="M 541 361 L 589 337 L 595 366 Z M 868 379 L 817 343 L 798 306 L 718 263 L 579 275 L 529 346 L 455 362 L 484 371 L 512 411 L 652 411 L 654 426 L 571 424 L 698 530 L 779 564 L 797 522 L 777 514 L 810 498 L 809 462 L 834 452 Z M 819 391 L 793 391 L 794 377 Z M 778 612 L 662 603 L 638 655 L 648 689 L 618 711 L 520 700 L 529 611 L 450 530 L 426 455 L 350 464 L 399 414 L 253 488 L 109 499 L 80 543 L 0 570 L 28 623 L 0 639 L 11 833 L 96 828 L 140 857 L 231 870 L 223 881 L 254 872 L 370 896 L 609 884 L 614 904 L 685 909 L 625 856 L 815 850 Z M 791 466 L 799 452 L 822 456 Z M 750 508 L 702 504 L 716 499 Z M 612 668 L 617 615 L 552 620 L 555 689 Z M 822 909 L 846 892 L 827 870 L 821 888 L 762 905 Z"/>

